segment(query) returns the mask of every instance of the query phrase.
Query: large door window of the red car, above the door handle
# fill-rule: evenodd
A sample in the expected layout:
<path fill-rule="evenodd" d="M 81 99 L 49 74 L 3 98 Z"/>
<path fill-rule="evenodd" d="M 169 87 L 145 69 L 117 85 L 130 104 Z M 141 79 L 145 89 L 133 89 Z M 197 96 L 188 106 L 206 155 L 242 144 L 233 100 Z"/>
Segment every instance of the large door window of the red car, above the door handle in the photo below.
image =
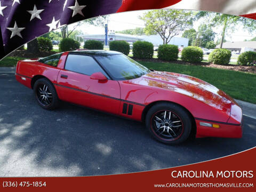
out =
<path fill-rule="evenodd" d="M 65 69 L 89 76 L 101 72 L 109 78 L 99 64 L 92 57 L 87 55 L 69 54 L 66 60 Z"/>

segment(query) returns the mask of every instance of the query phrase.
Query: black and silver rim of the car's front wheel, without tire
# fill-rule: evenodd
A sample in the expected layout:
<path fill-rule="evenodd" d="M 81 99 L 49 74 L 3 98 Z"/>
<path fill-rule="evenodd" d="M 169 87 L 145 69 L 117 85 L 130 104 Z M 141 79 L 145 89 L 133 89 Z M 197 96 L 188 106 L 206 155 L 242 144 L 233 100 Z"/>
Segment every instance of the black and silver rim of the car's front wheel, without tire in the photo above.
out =
<path fill-rule="evenodd" d="M 161 140 L 177 140 L 183 133 L 182 119 L 170 110 L 157 111 L 150 121 L 151 130 Z"/>

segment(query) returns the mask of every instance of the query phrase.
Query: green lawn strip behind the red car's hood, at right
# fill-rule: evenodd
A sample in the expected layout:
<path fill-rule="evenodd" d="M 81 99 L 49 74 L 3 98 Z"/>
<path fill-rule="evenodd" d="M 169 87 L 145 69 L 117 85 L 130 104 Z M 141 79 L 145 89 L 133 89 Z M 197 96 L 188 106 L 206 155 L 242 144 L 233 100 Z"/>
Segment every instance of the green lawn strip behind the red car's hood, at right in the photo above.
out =
<path fill-rule="evenodd" d="M 197 77 L 225 91 L 235 99 L 256 103 L 256 74 L 176 63 L 139 62 L 150 69 Z"/>

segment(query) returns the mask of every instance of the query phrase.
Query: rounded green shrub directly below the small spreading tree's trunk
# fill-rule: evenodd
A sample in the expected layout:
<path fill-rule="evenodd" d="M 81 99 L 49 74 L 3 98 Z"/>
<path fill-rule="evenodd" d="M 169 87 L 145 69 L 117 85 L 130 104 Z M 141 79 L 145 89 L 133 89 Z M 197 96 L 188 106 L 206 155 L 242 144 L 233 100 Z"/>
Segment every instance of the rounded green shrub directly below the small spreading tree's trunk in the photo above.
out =
<path fill-rule="evenodd" d="M 177 45 L 160 45 L 157 50 L 158 59 L 173 61 L 178 59 L 179 48 Z"/>

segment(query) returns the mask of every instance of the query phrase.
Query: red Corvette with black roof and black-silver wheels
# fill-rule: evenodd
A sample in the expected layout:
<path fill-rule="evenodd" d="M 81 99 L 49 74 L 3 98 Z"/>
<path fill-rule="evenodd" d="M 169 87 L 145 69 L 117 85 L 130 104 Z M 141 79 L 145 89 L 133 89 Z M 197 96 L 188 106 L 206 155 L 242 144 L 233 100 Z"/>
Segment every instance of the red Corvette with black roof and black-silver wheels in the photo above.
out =
<path fill-rule="evenodd" d="M 119 52 L 22 60 L 15 76 L 44 109 L 62 100 L 142 121 L 164 143 L 180 143 L 190 134 L 242 137 L 242 109 L 226 93 L 195 77 L 151 71 Z"/>

